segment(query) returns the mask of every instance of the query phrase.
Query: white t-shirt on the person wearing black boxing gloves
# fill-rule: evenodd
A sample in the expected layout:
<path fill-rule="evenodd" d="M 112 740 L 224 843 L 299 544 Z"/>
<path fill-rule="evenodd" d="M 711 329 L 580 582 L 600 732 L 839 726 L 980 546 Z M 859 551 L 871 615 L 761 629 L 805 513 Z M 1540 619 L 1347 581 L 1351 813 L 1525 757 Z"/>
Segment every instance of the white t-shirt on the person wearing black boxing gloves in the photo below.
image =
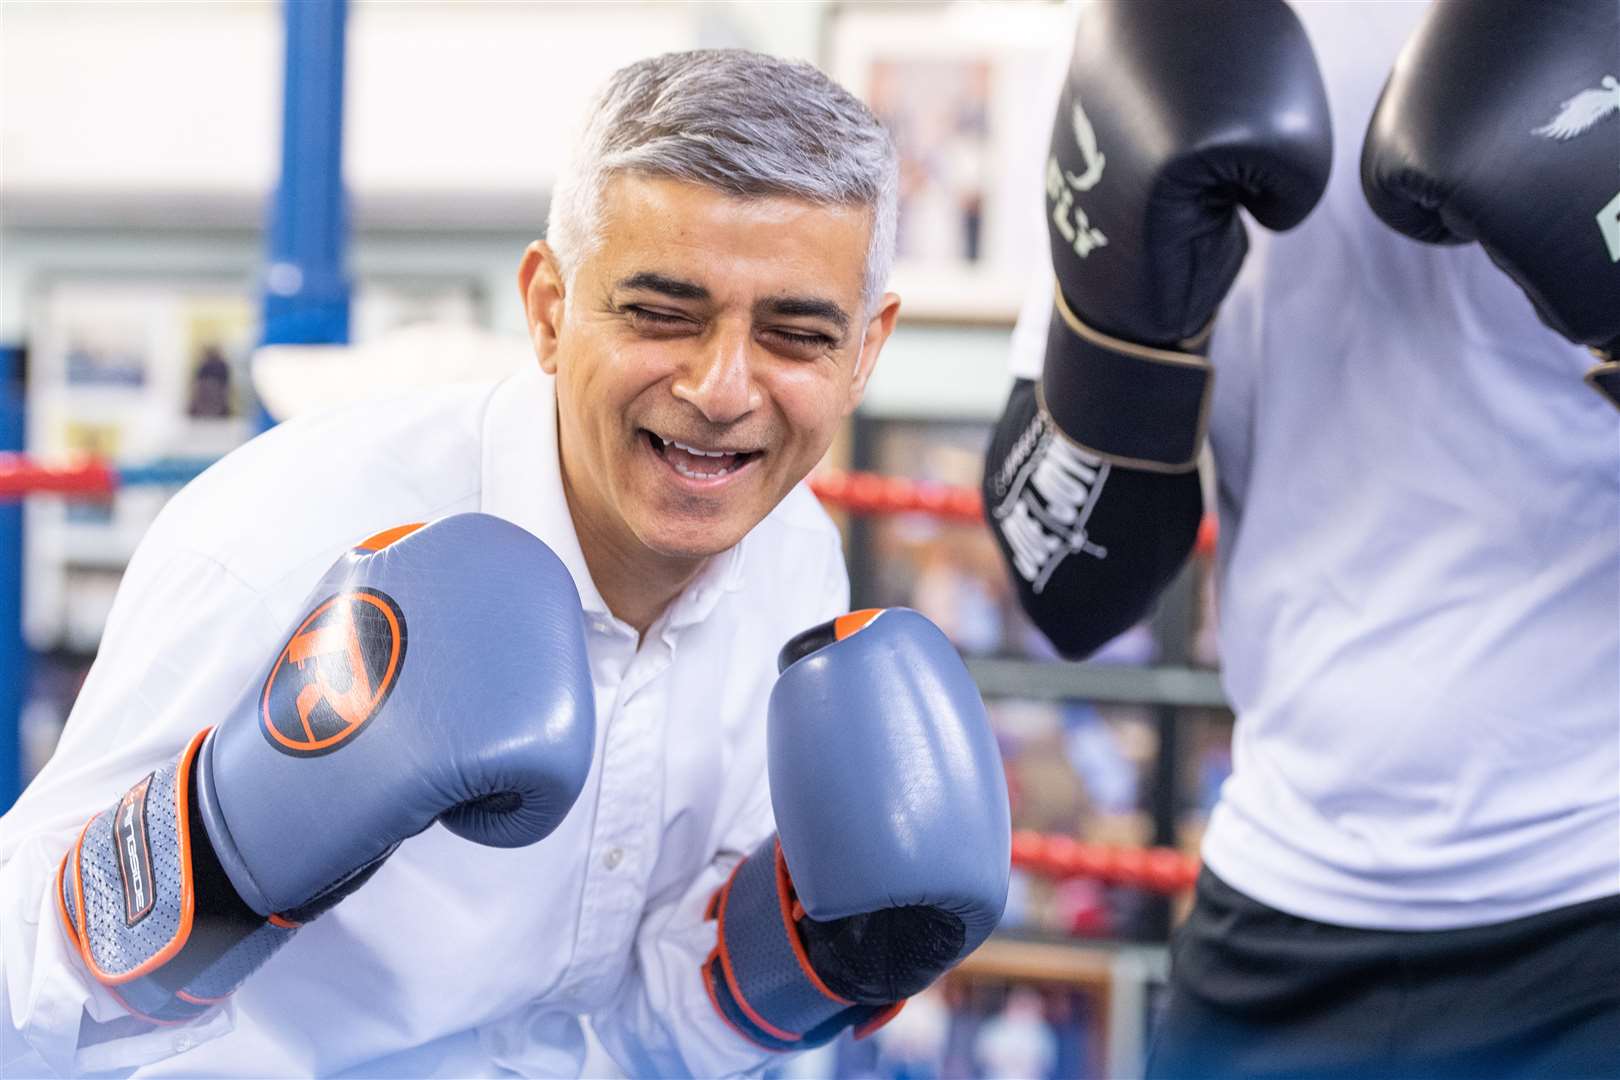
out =
<path fill-rule="evenodd" d="M 1424 5 L 1296 10 L 1333 175 L 1299 228 L 1251 222 L 1215 324 L 1238 725 L 1204 860 L 1366 928 L 1617 894 L 1620 415 L 1477 246 L 1419 244 L 1366 204 L 1361 141 Z M 1048 311 L 1032 298 L 1016 374 L 1038 372 Z"/>

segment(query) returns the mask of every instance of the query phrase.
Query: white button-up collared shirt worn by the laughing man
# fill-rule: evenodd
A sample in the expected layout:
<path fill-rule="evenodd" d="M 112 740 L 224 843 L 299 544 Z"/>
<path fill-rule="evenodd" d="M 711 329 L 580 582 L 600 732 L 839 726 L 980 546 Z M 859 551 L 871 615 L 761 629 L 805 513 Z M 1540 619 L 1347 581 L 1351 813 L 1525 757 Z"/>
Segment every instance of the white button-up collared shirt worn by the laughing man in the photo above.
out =
<path fill-rule="evenodd" d="M 723 1075 L 765 1054 L 714 1012 L 701 908 L 773 829 L 765 711 L 781 644 L 846 610 L 839 536 L 800 486 L 637 644 L 591 585 L 538 371 L 284 424 L 181 491 L 123 578 L 62 743 L 0 819 L 5 1077 L 577 1075 L 580 1017 L 622 1069 Z M 481 510 L 546 541 L 586 612 L 590 779 L 546 840 L 434 826 L 191 1025 L 123 1015 L 52 894 L 83 823 L 262 677 L 308 589 L 390 525 Z M 535 657 L 544 662 L 544 657 Z M 499 678 L 499 670 L 480 674 Z M 81 1014 L 92 1022 L 81 1028 Z"/>

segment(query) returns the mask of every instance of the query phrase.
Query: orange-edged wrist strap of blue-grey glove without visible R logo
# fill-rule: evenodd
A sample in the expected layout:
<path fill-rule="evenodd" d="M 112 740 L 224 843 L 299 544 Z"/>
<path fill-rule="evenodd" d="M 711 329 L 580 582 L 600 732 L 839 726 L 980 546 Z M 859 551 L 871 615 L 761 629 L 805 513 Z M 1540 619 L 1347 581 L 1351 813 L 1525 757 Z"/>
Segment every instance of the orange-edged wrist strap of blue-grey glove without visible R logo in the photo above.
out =
<path fill-rule="evenodd" d="M 812 970 L 794 926 L 795 902 L 774 836 L 742 860 L 719 894 L 716 959 L 724 989 L 770 1043 L 799 1043 L 854 1006 Z"/>

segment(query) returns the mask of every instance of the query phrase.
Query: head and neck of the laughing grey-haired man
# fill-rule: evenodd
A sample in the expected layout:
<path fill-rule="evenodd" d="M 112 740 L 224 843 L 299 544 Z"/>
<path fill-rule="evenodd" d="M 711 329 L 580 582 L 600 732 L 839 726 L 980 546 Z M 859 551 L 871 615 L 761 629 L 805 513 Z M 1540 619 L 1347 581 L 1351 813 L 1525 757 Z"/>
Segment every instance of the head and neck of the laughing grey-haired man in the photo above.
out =
<path fill-rule="evenodd" d="M 518 283 L 591 578 L 630 625 L 859 403 L 899 311 L 896 188 L 888 134 L 808 65 L 674 53 L 599 96 Z"/>

